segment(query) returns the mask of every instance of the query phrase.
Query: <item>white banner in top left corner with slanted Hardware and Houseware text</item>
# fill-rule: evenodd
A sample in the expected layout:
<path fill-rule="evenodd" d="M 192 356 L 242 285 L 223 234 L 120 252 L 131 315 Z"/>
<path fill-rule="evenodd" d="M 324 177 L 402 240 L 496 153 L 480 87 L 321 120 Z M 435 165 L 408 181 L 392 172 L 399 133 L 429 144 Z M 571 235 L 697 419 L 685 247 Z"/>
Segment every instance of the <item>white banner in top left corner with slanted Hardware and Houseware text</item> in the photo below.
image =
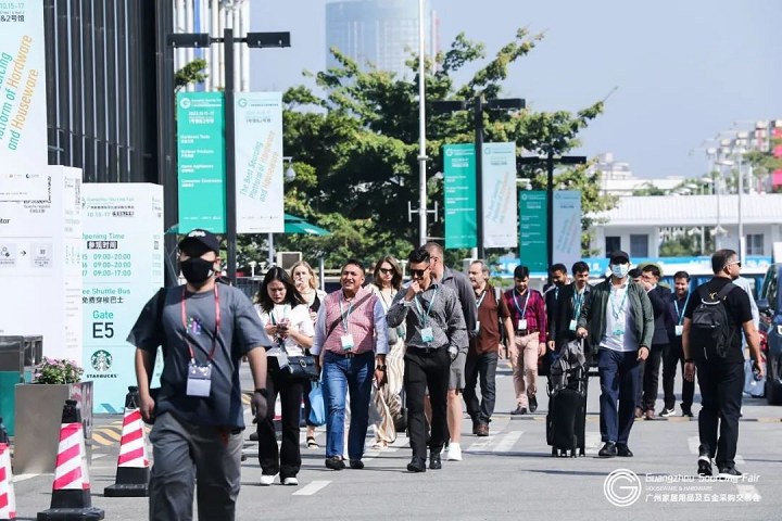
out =
<path fill-rule="evenodd" d="M 0 201 L 49 201 L 43 2 L 0 2 Z"/>

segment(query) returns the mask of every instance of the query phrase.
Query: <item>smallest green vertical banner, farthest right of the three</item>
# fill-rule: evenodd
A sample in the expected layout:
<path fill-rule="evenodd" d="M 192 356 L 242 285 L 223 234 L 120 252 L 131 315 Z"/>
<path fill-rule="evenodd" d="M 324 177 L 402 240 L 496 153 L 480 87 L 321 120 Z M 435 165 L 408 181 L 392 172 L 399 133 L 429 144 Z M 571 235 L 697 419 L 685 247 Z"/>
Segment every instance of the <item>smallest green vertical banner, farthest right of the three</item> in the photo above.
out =
<path fill-rule="evenodd" d="M 548 269 L 546 192 L 519 191 L 519 259 L 530 271 Z"/>

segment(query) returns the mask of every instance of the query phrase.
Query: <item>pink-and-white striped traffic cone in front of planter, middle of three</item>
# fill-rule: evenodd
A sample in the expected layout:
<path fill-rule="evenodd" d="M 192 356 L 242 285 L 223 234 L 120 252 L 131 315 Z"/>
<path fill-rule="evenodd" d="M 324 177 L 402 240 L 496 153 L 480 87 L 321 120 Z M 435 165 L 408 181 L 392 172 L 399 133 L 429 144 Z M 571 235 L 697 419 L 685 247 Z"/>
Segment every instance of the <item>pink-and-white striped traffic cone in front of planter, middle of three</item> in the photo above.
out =
<path fill-rule="evenodd" d="M 51 508 L 38 512 L 41 520 L 103 519 L 104 512 L 92 506 L 87 452 L 81 415 L 75 399 L 66 399 L 60 427 Z"/>

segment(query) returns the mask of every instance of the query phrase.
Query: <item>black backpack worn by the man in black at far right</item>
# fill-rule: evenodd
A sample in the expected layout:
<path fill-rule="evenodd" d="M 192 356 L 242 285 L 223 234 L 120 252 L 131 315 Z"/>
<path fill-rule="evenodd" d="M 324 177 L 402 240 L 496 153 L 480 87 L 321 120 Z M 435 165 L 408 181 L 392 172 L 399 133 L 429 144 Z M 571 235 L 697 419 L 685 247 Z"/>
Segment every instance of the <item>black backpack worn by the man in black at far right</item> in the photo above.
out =
<path fill-rule="evenodd" d="M 706 358 L 707 350 L 726 358 L 731 348 L 734 331 L 730 327 L 724 298 L 734 288 L 736 285 L 732 282 L 727 283 L 714 298 L 706 287 L 697 290 L 701 304 L 693 310 L 690 343 L 693 347 L 704 350 Z"/>

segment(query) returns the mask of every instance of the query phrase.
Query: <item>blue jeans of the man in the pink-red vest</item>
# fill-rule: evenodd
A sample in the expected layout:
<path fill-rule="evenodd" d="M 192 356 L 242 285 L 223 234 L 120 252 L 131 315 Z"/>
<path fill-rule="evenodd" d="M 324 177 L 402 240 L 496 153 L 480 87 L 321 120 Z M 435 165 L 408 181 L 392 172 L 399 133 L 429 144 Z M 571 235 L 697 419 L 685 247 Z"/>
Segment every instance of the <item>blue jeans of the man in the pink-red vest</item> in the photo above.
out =
<path fill-rule="evenodd" d="M 375 354 L 355 357 L 326 352 L 323 370 L 323 394 L 326 406 L 326 457 L 344 454 L 345 395 L 350 390 L 351 423 L 348 432 L 348 457 L 361 459 L 369 425 L 369 396 L 375 372 Z"/>

